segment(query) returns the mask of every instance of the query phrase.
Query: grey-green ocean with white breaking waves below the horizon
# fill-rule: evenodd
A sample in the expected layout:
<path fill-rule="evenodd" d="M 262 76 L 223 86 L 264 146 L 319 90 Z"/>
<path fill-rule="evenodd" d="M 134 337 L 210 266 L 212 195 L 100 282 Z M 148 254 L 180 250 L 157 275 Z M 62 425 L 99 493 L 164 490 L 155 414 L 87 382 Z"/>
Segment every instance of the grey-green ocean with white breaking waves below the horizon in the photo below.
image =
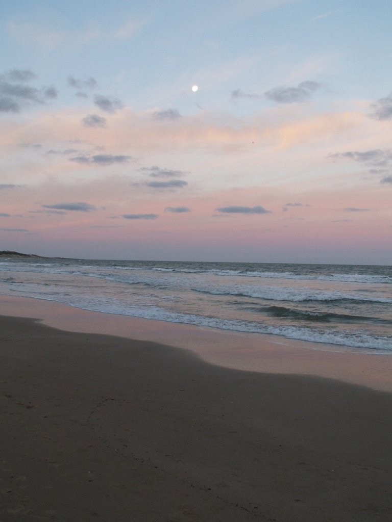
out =
<path fill-rule="evenodd" d="M 392 354 L 392 268 L 2 257 L 0 294 Z"/>

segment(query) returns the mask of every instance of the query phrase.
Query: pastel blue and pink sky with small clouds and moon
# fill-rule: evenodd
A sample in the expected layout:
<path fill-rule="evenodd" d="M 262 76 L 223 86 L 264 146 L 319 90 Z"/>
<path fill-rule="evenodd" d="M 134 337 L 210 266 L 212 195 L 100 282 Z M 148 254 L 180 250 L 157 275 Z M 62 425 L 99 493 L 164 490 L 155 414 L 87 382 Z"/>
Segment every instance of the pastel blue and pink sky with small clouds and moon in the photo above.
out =
<path fill-rule="evenodd" d="M 2 0 L 0 250 L 392 264 L 390 0 Z"/>

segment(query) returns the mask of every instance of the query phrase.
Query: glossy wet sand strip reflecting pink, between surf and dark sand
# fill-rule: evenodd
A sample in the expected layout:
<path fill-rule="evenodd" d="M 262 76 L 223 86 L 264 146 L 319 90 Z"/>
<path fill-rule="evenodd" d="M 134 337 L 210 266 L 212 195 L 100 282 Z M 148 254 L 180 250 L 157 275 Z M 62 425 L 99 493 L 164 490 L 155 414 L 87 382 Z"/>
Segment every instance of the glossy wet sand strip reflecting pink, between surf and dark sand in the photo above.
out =
<path fill-rule="evenodd" d="M 189 350 L 206 362 L 226 368 L 313 375 L 392 392 L 390 354 L 91 312 L 55 301 L 9 295 L 0 295 L 0 310 L 0 315 L 35 318 L 64 331 L 115 335 Z"/>

